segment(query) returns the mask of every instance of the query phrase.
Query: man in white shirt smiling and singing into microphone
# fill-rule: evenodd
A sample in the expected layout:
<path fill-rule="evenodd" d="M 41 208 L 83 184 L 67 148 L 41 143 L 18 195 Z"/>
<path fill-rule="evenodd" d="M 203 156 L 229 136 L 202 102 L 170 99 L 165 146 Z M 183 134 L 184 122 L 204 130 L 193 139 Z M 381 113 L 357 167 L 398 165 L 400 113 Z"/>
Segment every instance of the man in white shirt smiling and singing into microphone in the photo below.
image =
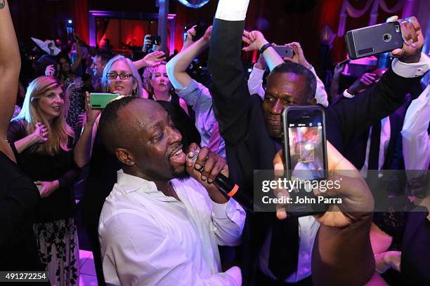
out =
<path fill-rule="evenodd" d="M 108 104 L 99 132 L 122 163 L 99 221 L 105 281 L 241 285 L 240 268 L 221 272 L 218 251 L 240 243 L 245 223 L 242 207 L 212 184 L 228 176 L 226 161 L 206 147 L 191 161 L 197 144 L 185 155 L 167 111 L 137 97 Z"/>

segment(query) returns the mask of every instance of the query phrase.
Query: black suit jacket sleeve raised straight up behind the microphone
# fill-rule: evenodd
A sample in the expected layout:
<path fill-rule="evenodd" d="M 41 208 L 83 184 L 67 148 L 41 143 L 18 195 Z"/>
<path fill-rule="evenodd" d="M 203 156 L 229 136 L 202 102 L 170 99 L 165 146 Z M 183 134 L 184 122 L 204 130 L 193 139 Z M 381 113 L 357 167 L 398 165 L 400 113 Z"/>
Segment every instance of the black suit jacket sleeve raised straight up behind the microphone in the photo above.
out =
<path fill-rule="evenodd" d="M 208 67 L 214 114 L 226 144 L 244 139 L 248 130 L 249 90 L 240 60 L 245 21 L 214 19 Z"/>

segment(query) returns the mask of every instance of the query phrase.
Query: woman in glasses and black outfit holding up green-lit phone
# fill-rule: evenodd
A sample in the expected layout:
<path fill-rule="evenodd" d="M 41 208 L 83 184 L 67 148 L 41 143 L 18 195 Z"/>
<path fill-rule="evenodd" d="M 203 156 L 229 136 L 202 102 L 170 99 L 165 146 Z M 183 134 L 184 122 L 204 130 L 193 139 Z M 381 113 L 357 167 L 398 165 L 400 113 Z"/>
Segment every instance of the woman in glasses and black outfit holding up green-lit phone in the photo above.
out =
<path fill-rule="evenodd" d="M 133 62 L 122 55 L 112 57 L 103 70 L 102 90 L 104 93 L 143 97 L 141 77 Z M 86 121 L 74 150 L 74 159 L 81 168 L 89 166 L 82 200 L 84 224 L 93 250 L 98 285 L 105 285 L 97 234 L 98 217 L 105 198 L 117 180 L 117 170 L 120 167 L 115 156 L 107 152 L 97 134 L 99 118 L 100 110 L 91 109 L 87 93 Z"/>

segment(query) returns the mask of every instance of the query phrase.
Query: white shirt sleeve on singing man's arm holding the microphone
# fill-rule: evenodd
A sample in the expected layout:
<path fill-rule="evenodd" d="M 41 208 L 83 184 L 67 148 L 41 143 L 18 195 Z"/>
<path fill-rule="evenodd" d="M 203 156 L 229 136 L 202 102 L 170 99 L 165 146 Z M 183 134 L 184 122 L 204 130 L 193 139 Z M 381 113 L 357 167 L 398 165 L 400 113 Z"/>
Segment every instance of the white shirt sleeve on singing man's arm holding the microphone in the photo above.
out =
<path fill-rule="evenodd" d="M 246 216 L 245 210 L 233 198 L 223 204 L 212 201 L 212 222 L 218 245 L 239 245 Z"/>

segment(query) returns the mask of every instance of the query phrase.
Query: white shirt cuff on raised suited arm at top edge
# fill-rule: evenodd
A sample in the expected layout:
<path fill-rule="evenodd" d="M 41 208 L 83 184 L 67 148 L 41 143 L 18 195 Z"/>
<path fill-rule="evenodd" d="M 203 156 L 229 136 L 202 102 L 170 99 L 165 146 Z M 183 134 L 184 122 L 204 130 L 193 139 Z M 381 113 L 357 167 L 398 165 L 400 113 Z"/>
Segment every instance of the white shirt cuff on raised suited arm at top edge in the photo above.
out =
<path fill-rule="evenodd" d="M 226 21 L 243 21 L 247 16 L 249 0 L 219 0 L 215 18 Z"/>

